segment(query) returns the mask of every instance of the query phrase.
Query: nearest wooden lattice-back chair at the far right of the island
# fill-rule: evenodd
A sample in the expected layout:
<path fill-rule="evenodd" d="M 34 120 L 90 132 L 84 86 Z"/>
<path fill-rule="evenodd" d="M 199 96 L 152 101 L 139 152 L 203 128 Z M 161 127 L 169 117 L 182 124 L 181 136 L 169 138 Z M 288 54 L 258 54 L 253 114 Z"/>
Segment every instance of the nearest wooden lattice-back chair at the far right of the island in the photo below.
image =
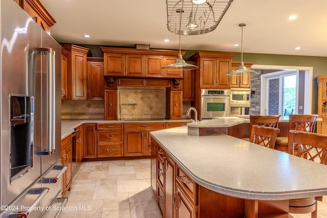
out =
<path fill-rule="evenodd" d="M 290 130 L 289 154 L 294 154 L 295 148 L 297 148 L 296 156 L 327 165 L 327 135 Z M 291 199 L 289 212 L 311 213 L 311 217 L 316 218 L 317 200 L 322 201 L 322 197 Z"/>

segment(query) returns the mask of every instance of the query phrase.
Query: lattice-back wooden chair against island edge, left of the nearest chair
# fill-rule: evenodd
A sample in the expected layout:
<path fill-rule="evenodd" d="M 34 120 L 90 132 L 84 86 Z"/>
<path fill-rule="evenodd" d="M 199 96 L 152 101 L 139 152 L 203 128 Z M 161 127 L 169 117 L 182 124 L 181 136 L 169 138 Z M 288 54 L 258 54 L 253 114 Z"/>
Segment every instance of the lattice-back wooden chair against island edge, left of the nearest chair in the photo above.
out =
<path fill-rule="evenodd" d="M 278 133 L 279 129 L 276 128 L 253 125 L 251 129 L 250 142 L 274 149 Z"/>

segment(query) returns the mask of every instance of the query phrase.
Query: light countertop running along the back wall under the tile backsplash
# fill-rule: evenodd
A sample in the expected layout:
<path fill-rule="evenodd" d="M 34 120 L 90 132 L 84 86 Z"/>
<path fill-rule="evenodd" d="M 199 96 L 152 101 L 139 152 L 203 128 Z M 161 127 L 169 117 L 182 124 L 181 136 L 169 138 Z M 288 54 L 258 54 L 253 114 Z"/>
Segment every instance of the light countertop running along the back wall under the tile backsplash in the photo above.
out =
<path fill-rule="evenodd" d="M 107 123 L 178 123 L 191 122 L 190 119 L 62 119 L 61 120 L 61 138 L 66 137 L 74 132 L 74 129 L 81 124 L 107 124 Z"/>

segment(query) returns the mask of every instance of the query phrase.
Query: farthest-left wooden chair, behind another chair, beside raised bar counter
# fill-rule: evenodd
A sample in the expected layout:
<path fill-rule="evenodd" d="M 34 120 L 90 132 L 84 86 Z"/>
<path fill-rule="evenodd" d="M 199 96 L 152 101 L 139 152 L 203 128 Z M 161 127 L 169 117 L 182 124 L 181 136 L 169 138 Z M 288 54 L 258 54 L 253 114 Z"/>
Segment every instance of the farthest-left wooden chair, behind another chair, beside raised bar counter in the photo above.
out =
<path fill-rule="evenodd" d="M 250 115 L 250 135 L 253 125 L 278 128 L 278 121 L 281 115 Z M 250 138 L 242 138 L 249 141 Z"/>

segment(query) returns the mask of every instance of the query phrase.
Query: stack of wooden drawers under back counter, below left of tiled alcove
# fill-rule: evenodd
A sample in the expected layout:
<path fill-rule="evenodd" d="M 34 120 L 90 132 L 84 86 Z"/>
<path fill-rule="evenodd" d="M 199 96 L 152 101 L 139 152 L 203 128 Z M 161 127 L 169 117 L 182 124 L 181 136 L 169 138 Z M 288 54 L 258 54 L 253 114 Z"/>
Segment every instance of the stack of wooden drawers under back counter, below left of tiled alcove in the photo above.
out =
<path fill-rule="evenodd" d="M 97 157 L 122 157 L 124 155 L 124 125 L 97 124 Z"/>

